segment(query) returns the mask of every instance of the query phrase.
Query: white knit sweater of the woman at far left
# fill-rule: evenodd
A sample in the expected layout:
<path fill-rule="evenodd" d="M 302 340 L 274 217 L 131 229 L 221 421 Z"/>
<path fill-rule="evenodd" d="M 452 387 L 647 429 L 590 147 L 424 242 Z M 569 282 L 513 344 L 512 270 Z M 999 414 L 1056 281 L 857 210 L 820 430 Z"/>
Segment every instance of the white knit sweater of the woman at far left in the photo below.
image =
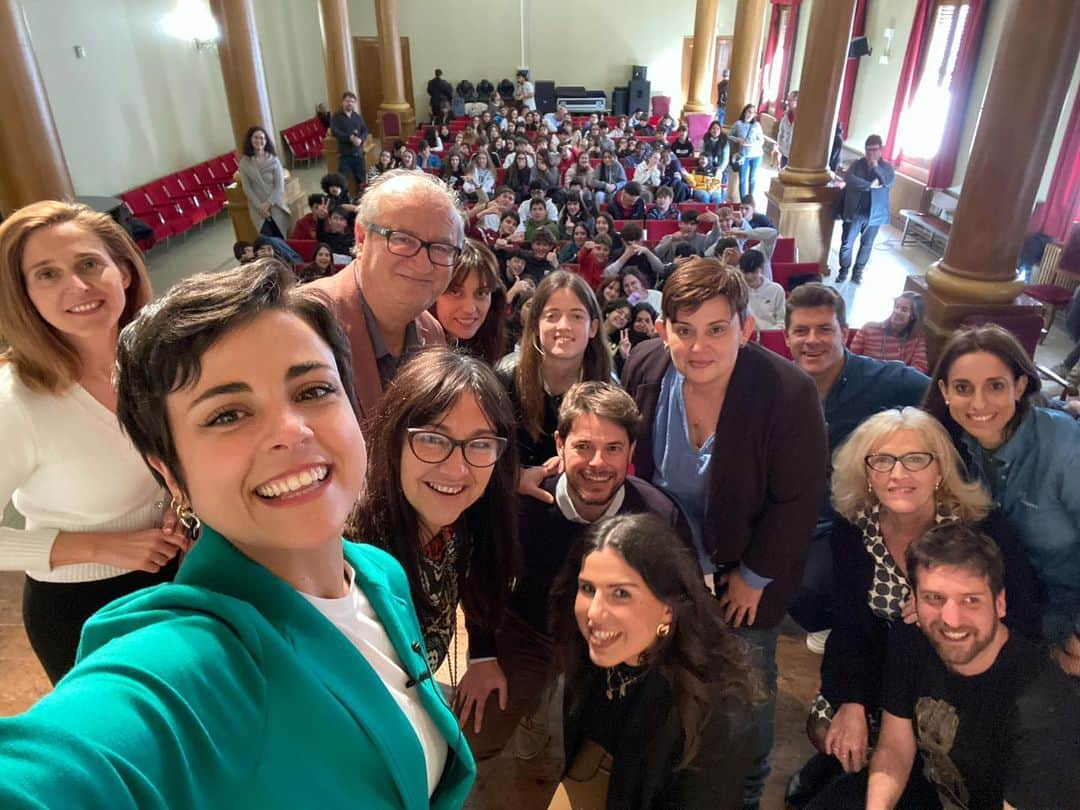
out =
<path fill-rule="evenodd" d="M 0 364 L 0 504 L 25 529 L 0 528 L 0 570 L 46 582 L 87 582 L 127 571 L 96 563 L 50 568 L 58 531 L 124 531 L 160 526 L 167 504 L 117 417 L 81 386 L 60 395 L 24 386 Z"/>

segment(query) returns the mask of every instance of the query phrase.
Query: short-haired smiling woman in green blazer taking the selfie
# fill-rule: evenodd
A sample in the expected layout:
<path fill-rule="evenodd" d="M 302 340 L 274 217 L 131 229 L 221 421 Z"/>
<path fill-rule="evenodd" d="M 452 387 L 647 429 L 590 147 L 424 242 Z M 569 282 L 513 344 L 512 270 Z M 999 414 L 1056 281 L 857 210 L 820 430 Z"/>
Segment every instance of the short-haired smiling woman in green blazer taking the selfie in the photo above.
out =
<path fill-rule="evenodd" d="M 341 539 L 366 453 L 334 314 L 262 259 L 179 282 L 120 342 L 120 421 L 199 542 L 0 720 L 0 806 L 460 808 L 475 766 L 408 582 Z"/>

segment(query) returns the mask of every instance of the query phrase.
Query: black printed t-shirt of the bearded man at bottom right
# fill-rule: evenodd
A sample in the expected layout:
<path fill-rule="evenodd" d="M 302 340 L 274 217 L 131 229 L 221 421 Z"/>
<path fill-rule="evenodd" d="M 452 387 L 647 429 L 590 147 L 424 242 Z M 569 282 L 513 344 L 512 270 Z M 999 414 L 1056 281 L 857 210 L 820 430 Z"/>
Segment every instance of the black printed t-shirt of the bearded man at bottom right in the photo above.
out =
<path fill-rule="evenodd" d="M 945 807 L 1080 808 L 1080 681 L 1032 642 L 1010 634 L 986 672 L 963 676 L 904 625 L 889 650 L 885 708 L 912 719 Z"/>

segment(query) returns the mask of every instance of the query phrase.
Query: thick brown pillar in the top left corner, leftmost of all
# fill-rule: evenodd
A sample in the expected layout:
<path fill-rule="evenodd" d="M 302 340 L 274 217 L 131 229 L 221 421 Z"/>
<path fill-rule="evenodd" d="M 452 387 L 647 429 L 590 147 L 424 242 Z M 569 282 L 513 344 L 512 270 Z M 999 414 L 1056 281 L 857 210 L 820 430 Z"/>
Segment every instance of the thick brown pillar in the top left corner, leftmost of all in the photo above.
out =
<path fill-rule="evenodd" d="M 8 99 L 0 126 L 0 154 L 4 156 L 0 160 L 0 211 L 10 215 L 38 200 L 75 197 L 18 0 L 0 0 L 0 98 Z"/>

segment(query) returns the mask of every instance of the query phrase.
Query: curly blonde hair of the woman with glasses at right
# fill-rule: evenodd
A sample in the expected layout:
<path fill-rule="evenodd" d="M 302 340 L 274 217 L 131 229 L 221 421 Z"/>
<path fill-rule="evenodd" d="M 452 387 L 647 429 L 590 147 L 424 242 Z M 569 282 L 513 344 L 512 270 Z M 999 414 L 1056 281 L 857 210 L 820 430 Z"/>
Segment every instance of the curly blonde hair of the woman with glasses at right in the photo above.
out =
<path fill-rule="evenodd" d="M 960 456 L 945 428 L 918 408 L 892 408 L 863 420 L 833 455 L 833 507 L 852 521 L 874 502 L 866 456 L 897 431 L 918 433 L 942 476 L 936 498 L 964 523 L 977 523 L 990 511 L 990 496 L 977 482 L 964 481 Z"/>

